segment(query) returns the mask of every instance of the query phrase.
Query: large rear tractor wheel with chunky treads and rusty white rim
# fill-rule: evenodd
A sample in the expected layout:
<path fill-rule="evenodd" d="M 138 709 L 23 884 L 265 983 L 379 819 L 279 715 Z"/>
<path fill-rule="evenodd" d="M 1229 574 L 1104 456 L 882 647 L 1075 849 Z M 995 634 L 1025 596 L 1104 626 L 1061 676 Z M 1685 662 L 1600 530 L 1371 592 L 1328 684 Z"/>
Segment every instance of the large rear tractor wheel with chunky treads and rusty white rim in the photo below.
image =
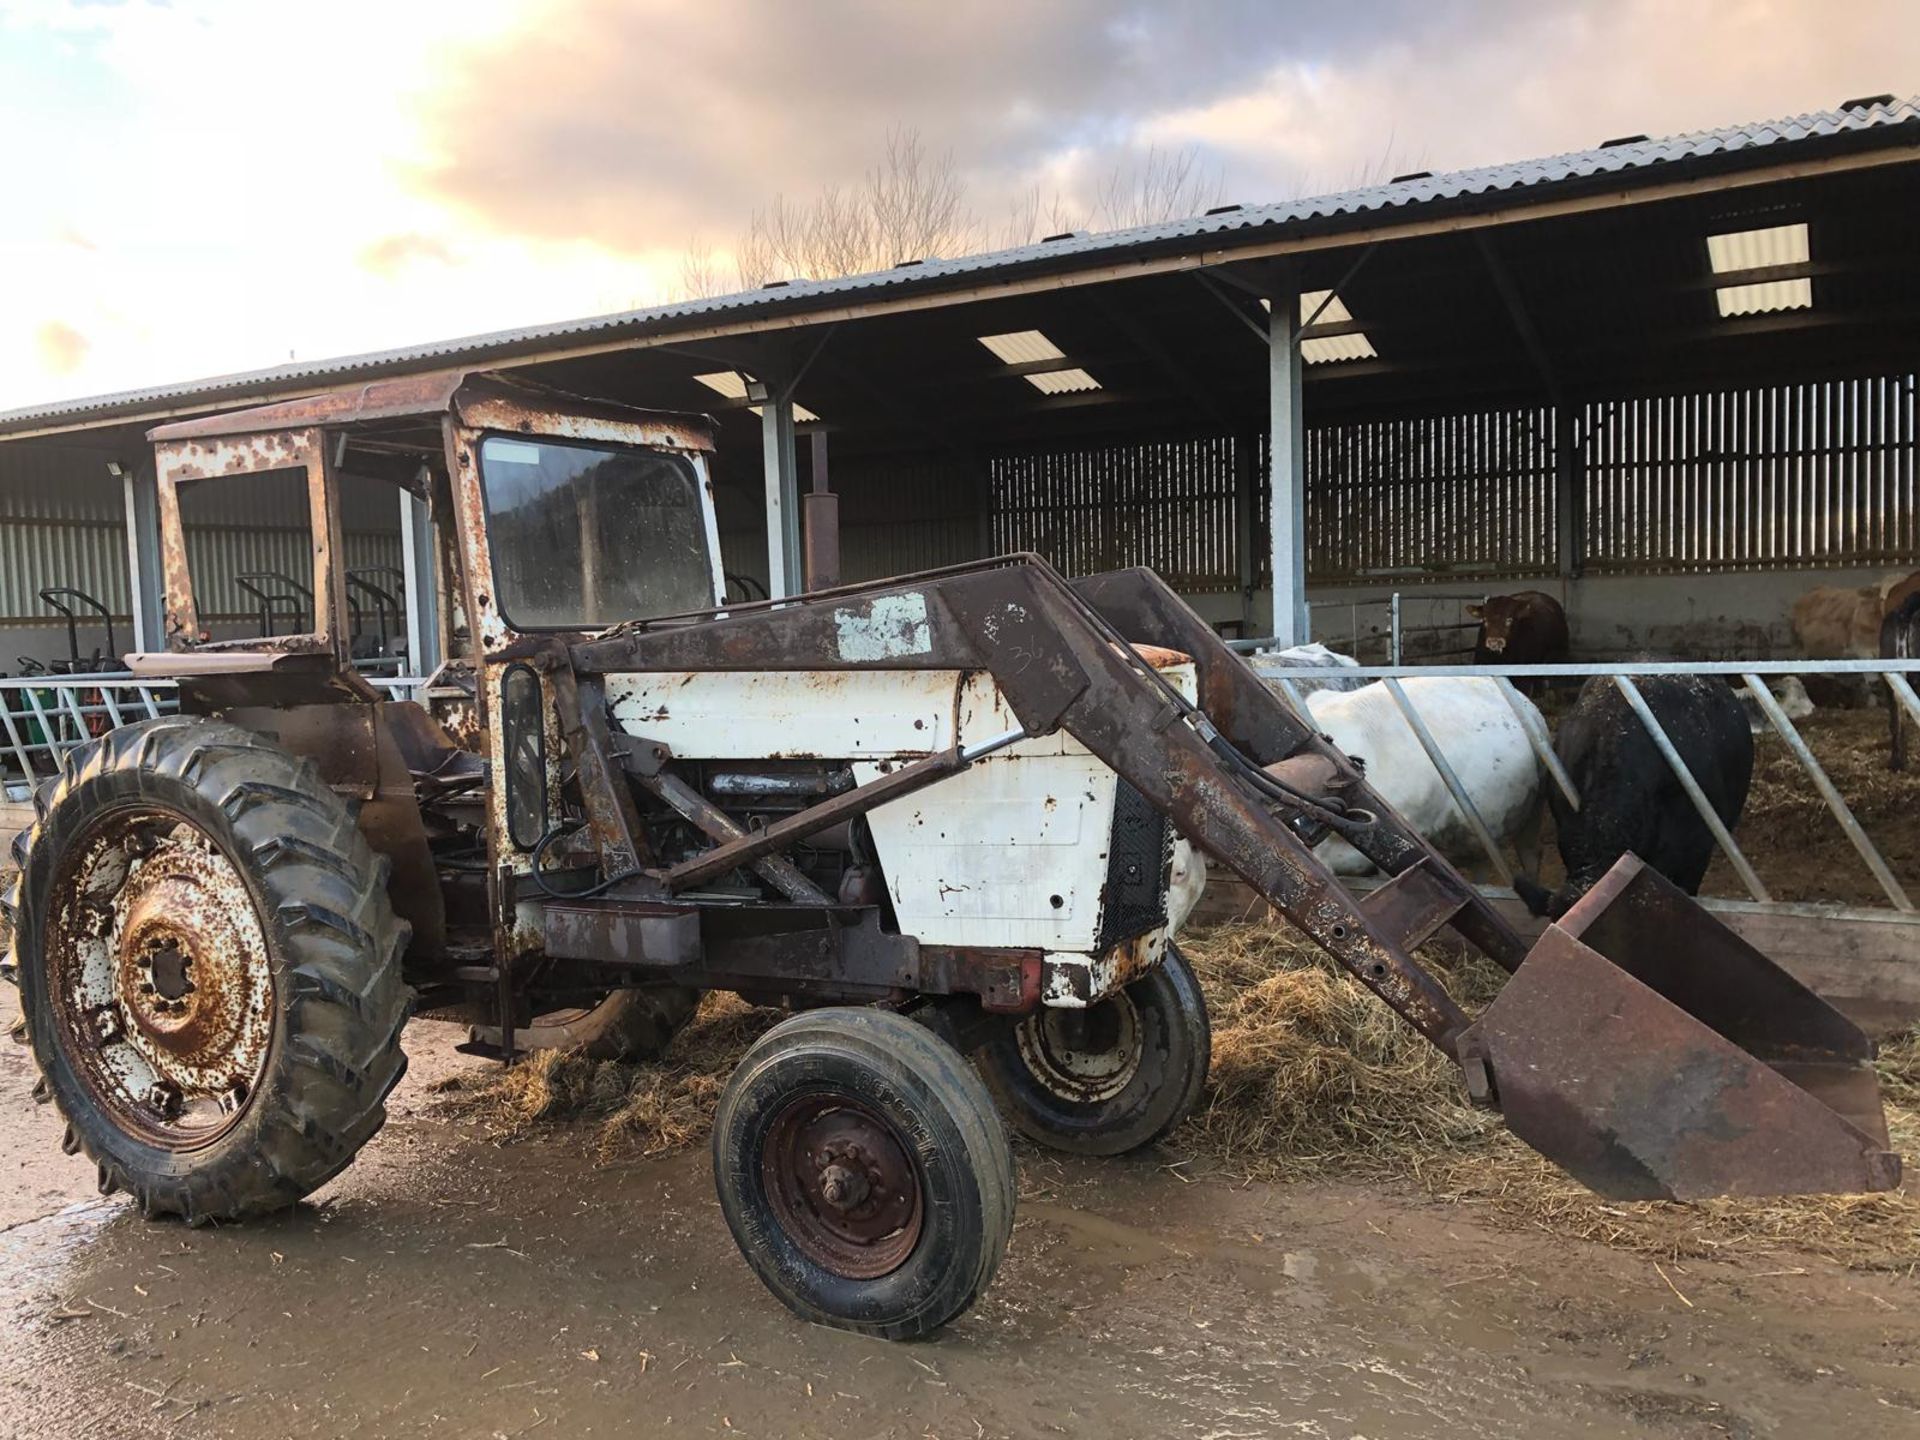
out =
<path fill-rule="evenodd" d="M 380 1129 L 407 1062 L 386 864 L 309 762 L 213 720 L 75 753 L 15 841 L 21 1010 L 100 1190 L 278 1210 Z"/>

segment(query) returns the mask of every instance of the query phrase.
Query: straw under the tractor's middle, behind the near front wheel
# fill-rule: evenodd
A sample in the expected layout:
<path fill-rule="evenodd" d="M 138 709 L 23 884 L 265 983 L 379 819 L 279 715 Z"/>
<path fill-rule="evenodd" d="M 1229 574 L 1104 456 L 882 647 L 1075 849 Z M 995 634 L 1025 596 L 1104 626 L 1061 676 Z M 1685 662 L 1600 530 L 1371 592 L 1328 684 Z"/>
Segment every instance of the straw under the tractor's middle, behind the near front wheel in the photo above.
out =
<path fill-rule="evenodd" d="M 499 1139 L 518 1139 L 543 1121 L 591 1119 L 601 1162 L 672 1154 L 707 1139 L 720 1087 L 778 1020 L 778 1010 L 712 993 L 657 1062 L 538 1050 L 453 1110 L 478 1114 Z"/>

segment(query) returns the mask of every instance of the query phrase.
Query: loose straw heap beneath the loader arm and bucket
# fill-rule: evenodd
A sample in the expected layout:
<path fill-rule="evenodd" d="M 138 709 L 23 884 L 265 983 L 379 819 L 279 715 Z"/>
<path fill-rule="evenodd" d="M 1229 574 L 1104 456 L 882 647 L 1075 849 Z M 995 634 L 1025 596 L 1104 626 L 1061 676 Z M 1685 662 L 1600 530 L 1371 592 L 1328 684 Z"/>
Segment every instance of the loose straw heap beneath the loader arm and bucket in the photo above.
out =
<path fill-rule="evenodd" d="M 1183 941 L 1213 1014 L 1208 1100 L 1177 1137 L 1233 1175 L 1405 1177 L 1427 1194 L 1555 1235 L 1674 1258 L 1797 1250 L 1920 1267 L 1920 1185 L 1872 1196 L 1611 1202 L 1467 1104 L 1452 1062 L 1292 933 L 1225 925 Z M 1469 1008 L 1498 972 L 1423 956 Z M 1882 1046 L 1893 1148 L 1920 1158 L 1920 1033 Z"/>

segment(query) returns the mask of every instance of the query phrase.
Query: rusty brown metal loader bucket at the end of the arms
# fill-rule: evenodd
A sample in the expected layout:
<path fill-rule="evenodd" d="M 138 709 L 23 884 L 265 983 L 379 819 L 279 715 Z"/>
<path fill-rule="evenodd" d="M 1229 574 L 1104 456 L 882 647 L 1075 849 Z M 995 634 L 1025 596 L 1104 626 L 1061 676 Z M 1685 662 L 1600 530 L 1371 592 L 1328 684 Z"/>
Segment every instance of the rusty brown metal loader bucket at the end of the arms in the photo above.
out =
<path fill-rule="evenodd" d="M 1636 856 L 1548 927 L 1459 1043 L 1509 1129 L 1617 1200 L 1891 1190 L 1872 1054 Z"/>

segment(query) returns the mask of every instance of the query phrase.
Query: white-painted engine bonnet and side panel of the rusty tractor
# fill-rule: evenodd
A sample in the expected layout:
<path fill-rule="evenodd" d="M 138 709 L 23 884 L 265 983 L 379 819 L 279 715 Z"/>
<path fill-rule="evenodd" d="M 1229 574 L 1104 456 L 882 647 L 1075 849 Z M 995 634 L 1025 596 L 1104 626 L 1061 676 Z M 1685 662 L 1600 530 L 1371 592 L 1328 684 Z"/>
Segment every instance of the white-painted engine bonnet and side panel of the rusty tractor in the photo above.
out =
<path fill-rule="evenodd" d="M 1162 664 L 1162 674 L 1194 693 L 1190 662 Z M 626 672 L 605 684 L 614 724 L 664 741 L 680 760 L 847 762 L 862 785 L 1018 724 L 983 672 Z M 872 810 L 900 931 L 927 945 L 1041 950 L 1050 1004 L 1089 1004 L 1158 962 L 1204 866 L 1185 841 L 1150 847 L 1139 868 L 1162 904 L 1140 908 L 1154 897 L 1135 883 L 1125 899 L 1139 925 L 1119 927 L 1139 933 L 1117 935 L 1106 914 L 1117 783 L 1104 760 L 1056 732 Z"/>

